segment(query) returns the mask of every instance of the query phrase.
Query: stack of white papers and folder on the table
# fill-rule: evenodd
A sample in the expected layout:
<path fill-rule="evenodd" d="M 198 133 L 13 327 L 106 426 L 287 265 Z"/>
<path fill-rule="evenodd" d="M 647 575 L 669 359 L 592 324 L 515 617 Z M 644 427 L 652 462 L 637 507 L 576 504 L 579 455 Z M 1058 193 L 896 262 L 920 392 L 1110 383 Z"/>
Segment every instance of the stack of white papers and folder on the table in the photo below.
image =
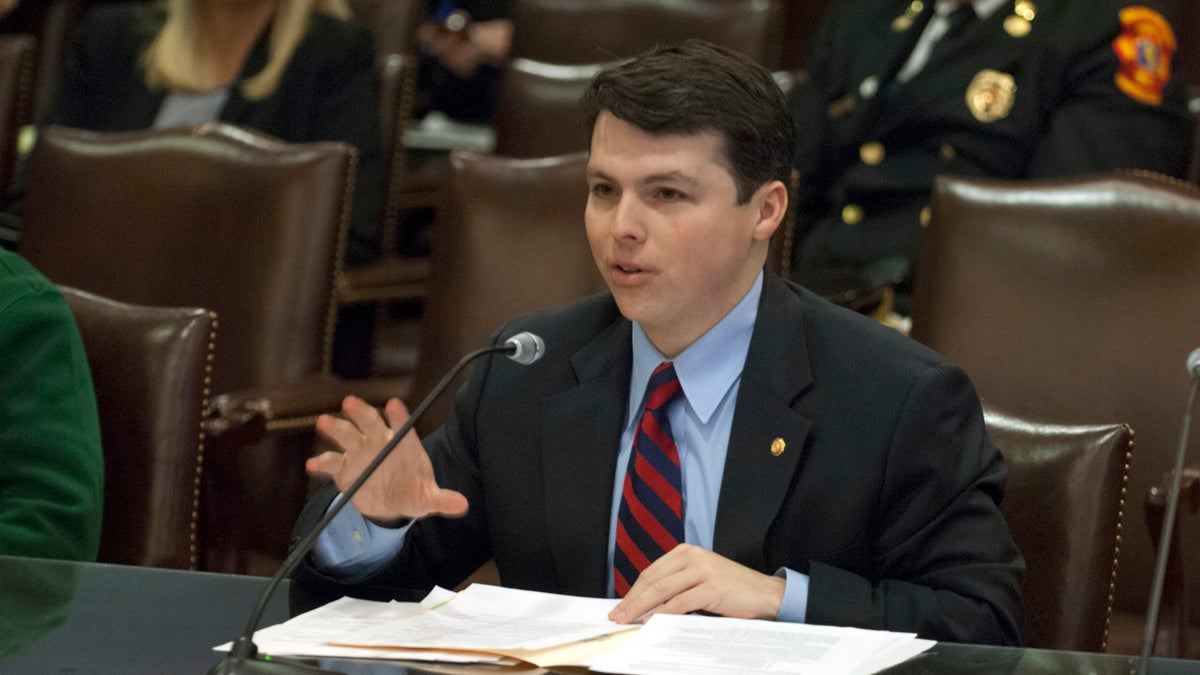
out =
<path fill-rule="evenodd" d="M 912 634 L 713 616 L 608 621 L 613 599 L 473 585 L 420 604 L 342 598 L 254 633 L 263 653 L 590 667 L 630 675 L 866 675 L 928 650 Z M 228 650 L 222 645 L 218 650 Z"/>

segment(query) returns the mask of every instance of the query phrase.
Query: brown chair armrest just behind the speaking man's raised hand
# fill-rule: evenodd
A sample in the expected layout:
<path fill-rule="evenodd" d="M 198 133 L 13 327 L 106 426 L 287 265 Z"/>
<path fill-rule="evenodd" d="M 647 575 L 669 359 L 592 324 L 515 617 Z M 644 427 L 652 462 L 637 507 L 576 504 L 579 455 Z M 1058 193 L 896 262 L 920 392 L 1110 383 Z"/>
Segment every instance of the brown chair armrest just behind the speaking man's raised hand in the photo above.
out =
<path fill-rule="evenodd" d="M 382 406 L 390 398 L 408 396 L 412 388 L 412 377 L 341 380 L 314 374 L 278 387 L 220 394 L 209 406 L 205 428 L 212 436 L 253 441 L 271 431 L 311 428 L 317 416 L 340 411 L 346 396 Z"/>

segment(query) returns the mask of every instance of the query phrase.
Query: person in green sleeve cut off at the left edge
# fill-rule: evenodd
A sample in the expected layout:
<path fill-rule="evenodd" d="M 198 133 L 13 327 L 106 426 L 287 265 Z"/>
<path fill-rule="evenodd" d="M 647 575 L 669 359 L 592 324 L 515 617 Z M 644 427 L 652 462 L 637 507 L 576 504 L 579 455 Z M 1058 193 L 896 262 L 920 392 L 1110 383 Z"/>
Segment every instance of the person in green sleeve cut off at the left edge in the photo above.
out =
<path fill-rule="evenodd" d="M 0 249 L 0 555 L 96 560 L 104 461 L 62 294 Z"/>

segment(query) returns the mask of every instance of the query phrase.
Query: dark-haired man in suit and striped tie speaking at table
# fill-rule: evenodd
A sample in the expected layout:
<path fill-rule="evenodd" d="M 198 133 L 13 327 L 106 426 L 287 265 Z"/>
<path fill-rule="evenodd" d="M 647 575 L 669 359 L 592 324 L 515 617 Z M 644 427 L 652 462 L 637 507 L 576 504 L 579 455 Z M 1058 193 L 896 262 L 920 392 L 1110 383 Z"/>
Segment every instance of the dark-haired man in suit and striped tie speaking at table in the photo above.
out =
<path fill-rule="evenodd" d="M 1018 644 L 1006 467 L 961 370 L 764 269 L 794 145 L 746 58 L 689 41 L 600 73 L 584 223 L 610 293 L 502 327 L 538 363 L 476 362 L 296 571 L 299 603 L 520 589 L 650 610 Z M 580 186 L 583 189 L 583 186 Z M 644 394 L 643 394 L 644 393 Z M 349 398 L 310 530 L 407 417 Z M 308 596 L 307 598 L 304 596 Z"/>

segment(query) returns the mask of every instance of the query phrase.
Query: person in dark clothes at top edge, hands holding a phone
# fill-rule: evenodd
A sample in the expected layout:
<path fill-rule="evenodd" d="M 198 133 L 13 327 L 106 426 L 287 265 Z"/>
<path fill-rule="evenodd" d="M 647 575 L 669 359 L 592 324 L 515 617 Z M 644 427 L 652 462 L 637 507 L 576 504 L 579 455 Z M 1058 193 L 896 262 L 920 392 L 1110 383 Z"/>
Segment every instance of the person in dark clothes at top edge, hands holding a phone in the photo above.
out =
<path fill-rule="evenodd" d="M 418 31 L 416 117 L 437 110 L 461 123 L 491 123 L 512 47 L 511 0 L 428 0 L 428 10 Z"/>

